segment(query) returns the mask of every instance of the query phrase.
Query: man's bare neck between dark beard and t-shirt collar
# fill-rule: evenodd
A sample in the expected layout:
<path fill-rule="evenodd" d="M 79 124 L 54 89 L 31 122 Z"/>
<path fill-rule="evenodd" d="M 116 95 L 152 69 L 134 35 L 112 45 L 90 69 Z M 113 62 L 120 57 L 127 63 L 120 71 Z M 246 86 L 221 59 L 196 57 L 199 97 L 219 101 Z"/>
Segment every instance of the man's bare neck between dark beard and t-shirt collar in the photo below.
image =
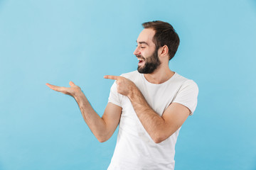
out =
<path fill-rule="evenodd" d="M 169 69 L 169 66 L 163 67 L 159 66 L 158 69 L 156 69 L 151 74 L 144 74 L 144 77 L 147 81 L 149 81 L 151 84 L 162 84 L 165 81 L 169 80 L 174 75 L 174 72 Z"/>

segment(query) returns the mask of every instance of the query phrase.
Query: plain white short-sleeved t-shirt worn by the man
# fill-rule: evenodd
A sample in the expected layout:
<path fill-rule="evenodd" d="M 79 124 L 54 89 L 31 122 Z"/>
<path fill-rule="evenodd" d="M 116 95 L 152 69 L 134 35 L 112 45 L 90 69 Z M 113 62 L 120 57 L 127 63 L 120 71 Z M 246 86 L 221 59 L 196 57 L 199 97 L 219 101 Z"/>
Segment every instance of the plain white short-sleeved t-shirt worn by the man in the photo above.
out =
<path fill-rule="evenodd" d="M 146 98 L 149 106 L 162 115 L 171 103 L 181 103 L 191 111 L 196 109 L 198 86 L 175 73 L 162 84 L 151 84 L 137 71 L 122 74 L 130 79 Z M 117 145 L 108 170 L 171 170 L 174 169 L 175 144 L 180 128 L 163 142 L 156 144 L 139 121 L 131 101 L 117 93 L 117 84 L 110 90 L 109 102 L 122 107 Z"/>

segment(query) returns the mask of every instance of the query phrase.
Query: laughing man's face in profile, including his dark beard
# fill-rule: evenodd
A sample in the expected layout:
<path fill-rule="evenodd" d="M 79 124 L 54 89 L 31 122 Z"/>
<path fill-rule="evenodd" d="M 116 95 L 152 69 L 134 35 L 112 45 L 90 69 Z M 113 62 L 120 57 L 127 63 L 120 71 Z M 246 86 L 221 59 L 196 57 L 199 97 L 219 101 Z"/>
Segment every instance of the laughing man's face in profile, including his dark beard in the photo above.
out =
<path fill-rule="evenodd" d="M 153 42 L 155 31 L 151 28 L 142 30 L 137 39 L 137 48 L 134 55 L 139 60 L 138 72 L 143 74 L 153 73 L 161 64 L 158 57 L 158 50 Z"/>

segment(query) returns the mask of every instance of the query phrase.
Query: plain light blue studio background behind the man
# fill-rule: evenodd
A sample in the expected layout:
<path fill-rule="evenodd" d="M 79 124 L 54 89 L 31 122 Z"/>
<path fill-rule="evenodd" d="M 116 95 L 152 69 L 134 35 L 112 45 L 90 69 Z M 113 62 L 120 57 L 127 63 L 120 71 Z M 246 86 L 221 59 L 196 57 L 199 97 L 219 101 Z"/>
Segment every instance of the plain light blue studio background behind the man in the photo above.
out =
<path fill-rule="evenodd" d="M 256 169 L 256 1 L 0 0 L 0 169 L 107 169 L 117 131 L 97 142 L 70 96 L 74 81 L 99 115 L 113 81 L 137 69 L 146 21 L 171 23 L 170 67 L 199 86 L 181 128 L 176 169 Z"/>

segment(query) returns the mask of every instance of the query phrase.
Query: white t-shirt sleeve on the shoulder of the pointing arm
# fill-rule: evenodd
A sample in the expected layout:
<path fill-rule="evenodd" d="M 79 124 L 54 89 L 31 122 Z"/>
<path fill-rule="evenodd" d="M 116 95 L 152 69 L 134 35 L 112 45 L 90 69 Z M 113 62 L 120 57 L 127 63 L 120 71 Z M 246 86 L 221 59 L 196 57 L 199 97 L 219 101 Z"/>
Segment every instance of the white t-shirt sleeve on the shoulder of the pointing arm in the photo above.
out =
<path fill-rule="evenodd" d="M 180 103 L 186 106 L 191 111 L 189 115 L 193 115 L 193 112 L 196 110 L 197 98 L 198 85 L 193 80 L 187 80 L 178 89 L 173 103 Z"/>

